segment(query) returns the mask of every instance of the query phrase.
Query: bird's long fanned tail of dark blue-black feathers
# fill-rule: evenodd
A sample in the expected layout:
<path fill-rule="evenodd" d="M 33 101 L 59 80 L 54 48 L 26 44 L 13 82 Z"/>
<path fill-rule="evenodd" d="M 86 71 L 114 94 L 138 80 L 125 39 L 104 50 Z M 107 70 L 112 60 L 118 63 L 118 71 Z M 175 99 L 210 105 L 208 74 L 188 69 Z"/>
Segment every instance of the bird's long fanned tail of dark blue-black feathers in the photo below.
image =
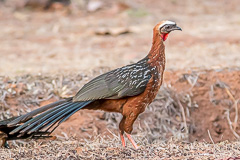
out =
<path fill-rule="evenodd" d="M 64 121 L 92 101 L 72 102 L 72 98 L 43 106 L 23 116 L 0 122 L 0 131 L 7 140 L 21 138 L 46 138 Z"/>

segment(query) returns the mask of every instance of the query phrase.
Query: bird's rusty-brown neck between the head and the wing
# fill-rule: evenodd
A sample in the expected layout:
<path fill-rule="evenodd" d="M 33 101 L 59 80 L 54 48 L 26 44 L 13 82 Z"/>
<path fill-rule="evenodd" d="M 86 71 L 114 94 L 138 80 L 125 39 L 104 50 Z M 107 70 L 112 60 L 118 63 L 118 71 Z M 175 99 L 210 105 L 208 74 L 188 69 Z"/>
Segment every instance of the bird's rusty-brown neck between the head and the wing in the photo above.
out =
<path fill-rule="evenodd" d="M 152 67 L 163 67 L 165 68 L 165 46 L 159 33 L 153 32 L 152 48 L 148 53 L 148 63 Z"/>

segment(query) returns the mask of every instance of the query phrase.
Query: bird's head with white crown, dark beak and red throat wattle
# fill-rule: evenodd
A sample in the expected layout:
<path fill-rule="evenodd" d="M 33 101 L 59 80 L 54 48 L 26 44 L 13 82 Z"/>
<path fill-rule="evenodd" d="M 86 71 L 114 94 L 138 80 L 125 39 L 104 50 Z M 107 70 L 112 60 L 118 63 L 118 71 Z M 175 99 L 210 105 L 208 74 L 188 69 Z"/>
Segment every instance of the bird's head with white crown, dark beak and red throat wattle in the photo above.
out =
<path fill-rule="evenodd" d="M 182 30 L 177 24 L 173 21 L 161 21 L 154 27 L 154 32 L 158 33 L 163 41 L 168 37 L 168 34 L 174 30 Z"/>

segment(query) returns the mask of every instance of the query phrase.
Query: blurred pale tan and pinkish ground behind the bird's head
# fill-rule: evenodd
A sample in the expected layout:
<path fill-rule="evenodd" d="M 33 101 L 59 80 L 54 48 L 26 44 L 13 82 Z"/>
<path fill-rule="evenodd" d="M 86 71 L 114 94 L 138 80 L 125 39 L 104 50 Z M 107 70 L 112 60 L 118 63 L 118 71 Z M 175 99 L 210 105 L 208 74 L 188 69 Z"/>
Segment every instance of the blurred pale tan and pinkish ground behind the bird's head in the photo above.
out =
<path fill-rule="evenodd" d="M 173 20 L 167 69 L 240 65 L 239 0 L 1 0 L 0 73 L 82 73 L 136 62 Z"/>

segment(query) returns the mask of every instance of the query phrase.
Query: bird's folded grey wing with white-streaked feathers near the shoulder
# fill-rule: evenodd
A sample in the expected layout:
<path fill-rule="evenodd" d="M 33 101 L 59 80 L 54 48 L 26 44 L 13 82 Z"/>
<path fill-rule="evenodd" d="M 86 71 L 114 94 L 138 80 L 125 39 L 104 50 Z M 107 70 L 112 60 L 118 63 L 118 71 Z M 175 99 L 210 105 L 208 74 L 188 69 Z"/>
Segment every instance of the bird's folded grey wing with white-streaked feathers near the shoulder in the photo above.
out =
<path fill-rule="evenodd" d="M 73 101 L 119 99 L 142 93 L 151 78 L 147 59 L 102 74 L 87 84 L 73 97 Z"/>

